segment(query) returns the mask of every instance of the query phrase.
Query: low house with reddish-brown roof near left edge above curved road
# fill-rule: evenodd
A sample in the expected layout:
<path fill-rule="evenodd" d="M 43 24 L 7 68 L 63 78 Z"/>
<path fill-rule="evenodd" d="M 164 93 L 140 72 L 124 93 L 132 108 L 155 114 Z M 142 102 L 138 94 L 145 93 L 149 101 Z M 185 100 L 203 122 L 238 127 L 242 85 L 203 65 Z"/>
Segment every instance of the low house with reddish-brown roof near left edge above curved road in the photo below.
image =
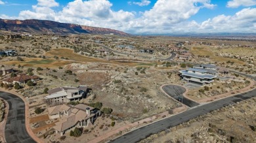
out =
<path fill-rule="evenodd" d="M 4 79 L 3 84 L 15 84 L 15 82 L 17 82 L 18 84 L 22 85 L 22 84 L 26 84 L 29 80 L 31 80 L 32 82 L 35 82 L 39 80 L 39 77 L 29 76 L 26 74 L 18 74 L 15 77 Z"/>

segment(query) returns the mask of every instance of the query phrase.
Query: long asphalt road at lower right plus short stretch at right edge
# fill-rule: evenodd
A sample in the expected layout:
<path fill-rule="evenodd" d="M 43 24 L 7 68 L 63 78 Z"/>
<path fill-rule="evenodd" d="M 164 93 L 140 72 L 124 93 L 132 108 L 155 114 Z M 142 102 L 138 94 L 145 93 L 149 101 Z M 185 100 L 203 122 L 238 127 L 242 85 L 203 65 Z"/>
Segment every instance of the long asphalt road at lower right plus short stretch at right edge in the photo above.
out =
<path fill-rule="evenodd" d="M 236 72 L 241 74 L 240 72 Z M 250 77 L 247 74 L 243 74 L 244 76 Z M 256 78 L 253 78 L 256 80 Z M 217 110 L 219 108 L 223 108 L 229 104 L 234 104 L 240 101 L 244 101 L 246 99 L 250 99 L 252 97 L 256 97 L 256 89 L 252 91 L 248 91 L 247 93 L 238 94 L 232 97 L 228 97 L 226 99 L 221 99 L 219 101 L 214 101 L 213 103 L 204 104 L 202 106 L 198 106 L 196 108 L 192 108 L 187 110 L 186 112 L 182 112 L 181 114 L 177 114 L 176 116 L 172 116 L 170 118 L 163 119 L 161 121 L 157 121 L 156 123 L 152 123 L 145 127 L 141 127 L 136 129 L 135 131 L 131 131 L 111 142 L 139 142 L 140 140 L 147 138 L 150 135 L 160 133 L 170 127 L 175 127 L 181 123 L 189 121 L 190 119 L 196 118 L 198 116 L 202 116 L 203 114 L 207 114 L 213 110 Z"/>

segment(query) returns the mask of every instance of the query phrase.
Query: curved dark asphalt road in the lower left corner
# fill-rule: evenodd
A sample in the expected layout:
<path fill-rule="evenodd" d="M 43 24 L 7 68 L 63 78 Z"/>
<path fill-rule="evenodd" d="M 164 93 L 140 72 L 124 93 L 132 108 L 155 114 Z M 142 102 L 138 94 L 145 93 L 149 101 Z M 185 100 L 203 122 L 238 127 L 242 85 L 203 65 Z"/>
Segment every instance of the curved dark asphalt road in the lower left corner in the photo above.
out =
<path fill-rule="evenodd" d="M 0 91 L 0 97 L 9 103 L 7 123 L 5 125 L 5 139 L 7 143 L 34 143 L 28 135 L 25 126 L 25 104 L 16 95 Z"/>

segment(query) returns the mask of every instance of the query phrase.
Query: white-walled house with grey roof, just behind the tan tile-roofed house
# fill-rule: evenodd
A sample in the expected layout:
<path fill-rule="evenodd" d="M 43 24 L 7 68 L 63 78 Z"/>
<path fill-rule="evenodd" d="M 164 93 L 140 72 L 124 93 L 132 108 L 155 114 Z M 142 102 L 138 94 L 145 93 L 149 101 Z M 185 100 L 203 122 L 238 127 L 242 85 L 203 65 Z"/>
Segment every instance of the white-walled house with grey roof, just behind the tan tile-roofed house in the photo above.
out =
<path fill-rule="evenodd" d="M 87 95 L 87 86 L 78 87 L 56 87 L 48 91 L 49 95 L 45 99 L 49 103 L 69 103 L 79 101 Z"/>

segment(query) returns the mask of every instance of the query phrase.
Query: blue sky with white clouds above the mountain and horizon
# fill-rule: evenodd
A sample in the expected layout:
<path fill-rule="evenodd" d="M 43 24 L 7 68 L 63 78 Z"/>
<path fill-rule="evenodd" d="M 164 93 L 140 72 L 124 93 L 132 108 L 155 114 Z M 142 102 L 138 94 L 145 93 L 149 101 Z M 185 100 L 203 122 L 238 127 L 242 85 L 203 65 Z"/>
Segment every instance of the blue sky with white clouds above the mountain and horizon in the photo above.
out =
<path fill-rule="evenodd" d="M 131 34 L 256 33 L 256 0 L 0 0 L 0 18 Z"/>

